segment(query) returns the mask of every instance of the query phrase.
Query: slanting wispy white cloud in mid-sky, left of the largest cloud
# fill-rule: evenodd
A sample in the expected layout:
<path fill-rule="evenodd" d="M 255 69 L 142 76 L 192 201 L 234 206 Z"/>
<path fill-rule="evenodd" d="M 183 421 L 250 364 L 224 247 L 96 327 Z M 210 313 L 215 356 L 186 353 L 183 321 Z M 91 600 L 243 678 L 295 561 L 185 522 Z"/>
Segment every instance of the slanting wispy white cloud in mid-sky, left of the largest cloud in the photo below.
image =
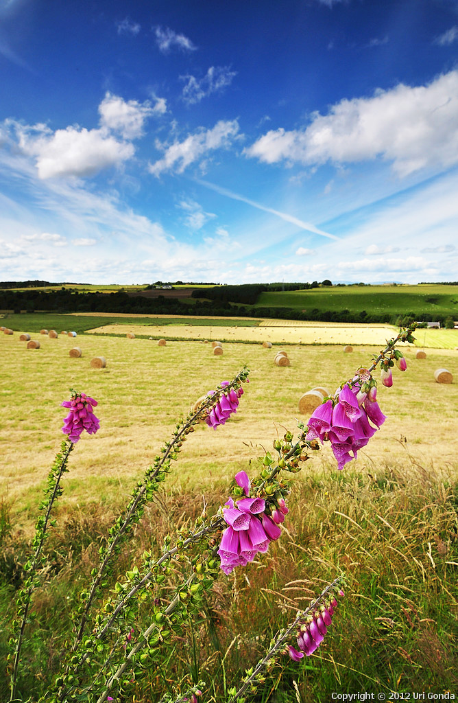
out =
<path fill-rule="evenodd" d="M 175 141 L 166 146 L 156 141 L 156 148 L 164 150 L 164 157 L 150 164 L 149 171 L 155 176 L 166 171 L 183 173 L 185 168 L 201 157 L 219 148 L 227 148 L 237 136 L 239 124 L 237 120 L 220 120 L 212 129 L 203 127 L 195 134 L 190 134 L 184 141 Z"/>

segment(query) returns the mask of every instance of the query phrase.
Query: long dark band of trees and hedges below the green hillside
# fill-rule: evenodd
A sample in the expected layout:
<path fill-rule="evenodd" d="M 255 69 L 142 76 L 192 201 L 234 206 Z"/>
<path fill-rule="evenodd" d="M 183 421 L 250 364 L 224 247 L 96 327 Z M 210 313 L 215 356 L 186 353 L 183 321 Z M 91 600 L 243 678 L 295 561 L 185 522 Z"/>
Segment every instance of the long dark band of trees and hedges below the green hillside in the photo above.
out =
<path fill-rule="evenodd" d="M 226 288 L 226 287 L 224 287 Z M 227 288 L 230 288 L 227 286 Z M 211 289 L 210 289 L 211 290 Z M 202 294 L 201 294 L 202 295 Z M 207 290 L 205 291 L 207 295 Z M 78 292 L 67 289 L 51 290 L 0 290 L 0 309 L 13 310 L 16 313 L 27 312 L 95 312 L 95 313 L 127 313 L 150 315 L 221 315 L 279 318 L 282 320 L 347 322 L 347 323 L 391 323 L 407 325 L 410 321 L 429 321 L 431 314 L 379 313 L 368 314 L 367 311 L 321 310 L 313 308 L 306 312 L 287 307 L 251 307 L 251 304 L 233 304 L 234 301 L 224 299 L 197 299 L 192 306 L 179 299 L 159 295 L 157 298 L 145 298 L 129 295 L 124 290 L 112 293 Z M 450 316 L 435 315 L 441 325 L 450 325 Z"/>

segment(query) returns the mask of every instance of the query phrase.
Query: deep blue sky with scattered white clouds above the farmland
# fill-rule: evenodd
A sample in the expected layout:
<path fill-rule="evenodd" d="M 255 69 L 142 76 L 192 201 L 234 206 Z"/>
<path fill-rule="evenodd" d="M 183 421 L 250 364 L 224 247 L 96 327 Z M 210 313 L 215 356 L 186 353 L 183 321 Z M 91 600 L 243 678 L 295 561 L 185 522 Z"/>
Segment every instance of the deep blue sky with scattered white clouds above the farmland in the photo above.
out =
<path fill-rule="evenodd" d="M 1 280 L 458 279 L 457 0 L 0 0 Z"/>

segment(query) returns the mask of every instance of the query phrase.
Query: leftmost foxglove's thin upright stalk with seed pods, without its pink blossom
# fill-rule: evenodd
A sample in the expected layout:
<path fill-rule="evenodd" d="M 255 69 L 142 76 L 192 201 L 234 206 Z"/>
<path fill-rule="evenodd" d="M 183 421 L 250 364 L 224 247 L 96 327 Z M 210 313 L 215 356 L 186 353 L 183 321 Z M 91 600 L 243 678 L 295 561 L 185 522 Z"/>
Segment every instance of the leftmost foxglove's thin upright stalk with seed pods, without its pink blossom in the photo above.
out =
<path fill-rule="evenodd" d="M 70 439 L 65 439 L 60 446 L 60 452 L 55 457 L 53 467 L 48 474 L 47 487 L 44 489 L 44 493 L 48 496 L 48 500 L 43 501 L 39 506 L 40 510 L 46 509 L 46 512 L 37 520 L 35 525 L 35 536 L 32 541 L 32 546 L 35 550 L 33 555 L 29 557 L 24 565 L 24 571 L 28 574 L 28 576 L 19 592 L 19 598 L 16 601 L 16 605 L 18 606 L 18 617 L 22 617 L 20 621 L 13 621 L 13 628 L 15 625 L 18 625 L 19 628 L 17 634 L 14 634 L 13 631 L 13 636 L 10 640 L 10 644 L 14 646 L 14 652 L 12 655 L 13 665 L 11 671 L 10 702 L 15 698 L 20 664 L 20 652 L 24 640 L 25 627 L 31 621 L 29 612 L 30 605 L 32 603 L 32 593 L 41 584 L 38 572 L 46 566 L 46 560 L 42 553 L 43 545 L 46 538 L 48 538 L 48 526 L 55 524 L 55 520 L 51 520 L 51 510 L 54 502 L 63 494 L 63 488 L 60 486 L 60 479 L 63 474 L 68 471 L 67 462 L 73 447 L 74 443 L 70 441 Z"/>

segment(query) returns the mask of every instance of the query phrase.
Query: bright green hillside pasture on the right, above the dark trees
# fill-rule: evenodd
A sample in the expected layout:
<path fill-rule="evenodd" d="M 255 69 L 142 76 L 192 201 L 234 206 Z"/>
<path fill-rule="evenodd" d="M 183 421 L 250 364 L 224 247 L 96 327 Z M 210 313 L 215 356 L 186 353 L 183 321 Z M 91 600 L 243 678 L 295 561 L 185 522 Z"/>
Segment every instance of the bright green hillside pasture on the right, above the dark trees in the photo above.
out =
<path fill-rule="evenodd" d="M 290 307 L 300 311 L 343 311 L 367 314 L 452 316 L 458 320 L 456 285 L 351 285 L 263 292 L 255 307 Z"/>

